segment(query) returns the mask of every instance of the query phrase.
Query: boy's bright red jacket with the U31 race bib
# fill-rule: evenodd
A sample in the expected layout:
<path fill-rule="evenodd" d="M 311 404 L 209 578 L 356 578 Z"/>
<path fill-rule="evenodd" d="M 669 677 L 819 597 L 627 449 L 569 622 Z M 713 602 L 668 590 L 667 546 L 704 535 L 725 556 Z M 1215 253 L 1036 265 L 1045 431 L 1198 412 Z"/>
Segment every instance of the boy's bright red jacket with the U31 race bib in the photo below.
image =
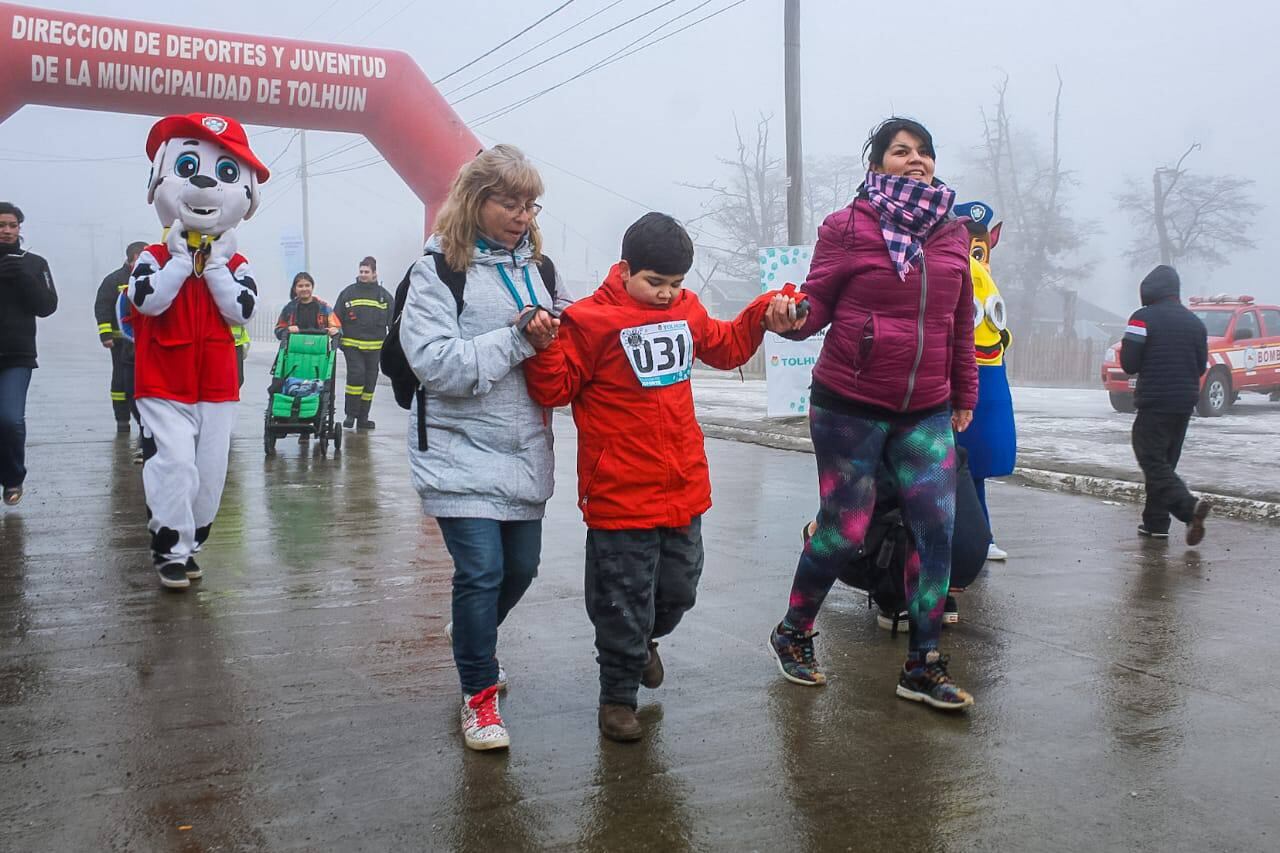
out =
<path fill-rule="evenodd" d="M 745 364 L 764 339 L 771 296 L 717 320 L 689 291 L 664 307 L 636 301 L 614 265 L 564 310 L 552 346 L 525 361 L 525 382 L 543 406 L 573 406 L 586 526 L 682 528 L 710 508 L 689 369 L 694 357 L 722 370 Z"/>

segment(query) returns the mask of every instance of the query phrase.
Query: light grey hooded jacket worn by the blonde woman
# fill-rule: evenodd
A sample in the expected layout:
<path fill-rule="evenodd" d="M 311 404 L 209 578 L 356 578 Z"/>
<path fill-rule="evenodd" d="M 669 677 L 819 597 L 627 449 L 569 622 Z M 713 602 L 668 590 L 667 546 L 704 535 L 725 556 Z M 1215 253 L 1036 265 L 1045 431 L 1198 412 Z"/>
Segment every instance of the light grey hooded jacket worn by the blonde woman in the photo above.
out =
<path fill-rule="evenodd" d="M 433 236 L 426 250 L 442 251 L 439 238 Z M 557 280 L 552 305 L 531 255 L 527 242 L 513 252 L 477 248 L 461 315 L 434 259 L 419 260 L 410 272 L 401 345 L 426 391 L 426 451 L 417 447 L 416 402 L 408 430 L 413 488 L 426 515 L 531 521 L 543 517 L 552 496 L 550 411 L 525 388 L 520 362 L 534 348 L 515 327 L 516 295 L 527 307 L 531 287 L 538 304 L 557 314 L 570 300 Z"/>

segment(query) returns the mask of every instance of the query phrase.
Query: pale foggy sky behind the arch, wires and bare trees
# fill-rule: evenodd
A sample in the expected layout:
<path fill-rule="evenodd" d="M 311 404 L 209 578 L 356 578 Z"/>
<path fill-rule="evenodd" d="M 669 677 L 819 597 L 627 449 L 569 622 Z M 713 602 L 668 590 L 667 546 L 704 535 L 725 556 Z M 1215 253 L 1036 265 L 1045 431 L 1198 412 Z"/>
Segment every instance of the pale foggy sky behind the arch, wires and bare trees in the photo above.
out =
<path fill-rule="evenodd" d="M 689 12 L 677 26 L 730 6 L 676 0 L 536 70 L 457 104 L 468 122 L 576 74 Z M 115 15 L 266 36 L 407 51 L 440 77 L 490 50 L 561 4 L 280 3 L 221 0 L 175 6 L 119 0 L 33 6 Z M 579 0 L 527 36 L 457 74 L 448 92 L 497 65 L 503 73 L 550 56 L 590 35 L 658 5 L 657 0 Z M 598 282 L 617 259 L 626 225 L 648 209 L 682 219 L 703 213 L 705 193 L 682 186 L 726 179 L 718 158 L 733 156 L 733 120 L 754 128 L 773 115 L 782 156 L 782 0 L 746 0 L 685 32 L 602 68 L 499 118 L 474 126 L 486 143 L 512 142 L 535 156 L 547 193 L 540 218 L 547 251 L 571 282 Z M 603 12 L 602 12 L 603 10 Z M 692 10 L 692 12 L 691 12 Z M 526 56 L 527 49 L 582 18 L 589 23 Z M 1146 272 L 1124 256 L 1134 225 L 1116 209 L 1126 178 L 1151 186 L 1156 167 L 1172 165 L 1190 146 L 1196 173 L 1256 182 L 1262 213 L 1239 227 L 1257 243 L 1226 265 L 1183 268 L 1184 293 L 1252 293 L 1280 300 L 1268 261 L 1277 248 L 1280 178 L 1267 164 L 1280 119 L 1274 87 L 1280 61 L 1272 45 L 1276 13 L 1263 4 L 1190 1 L 1143 4 L 1082 0 L 1033 4 L 803 4 L 803 109 L 806 155 L 856 154 L 877 120 L 906 114 L 924 122 L 937 143 L 937 173 L 961 199 L 960 177 L 983 140 L 995 87 L 1007 76 L 1012 123 L 1047 143 L 1057 74 L 1064 81 L 1062 167 L 1076 186 L 1070 215 L 1097 232 L 1078 260 L 1092 272 L 1074 282 L 1084 298 L 1125 314 L 1137 304 Z M 457 92 L 461 99 L 479 88 Z M 232 114 L 234 111 L 232 110 Z M 159 223 L 146 204 L 143 141 L 155 117 L 27 106 L 0 124 L 0 199 L 27 214 L 28 246 L 46 255 L 63 297 L 54 329 L 95 339 L 92 293 L 123 260 L 132 240 L 155 240 Z M 268 301 L 288 289 L 282 236 L 301 229 L 296 177 L 300 145 L 292 129 L 250 128 L 259 156 L 273 164 L 260 214 L 241 229 Z M 307 134 L 312 159 L 358 137 Z M 358 146 L 314 167 L 311 268 L 328 298 L 353 280 L 364 255 L 379 259 L 389 284 L 421 250 L 422 206 L 376 152 Z M 991 201 L 991 200 L 988 200 Z M 997 210 L 997 215 L 1002 211 Z M 1005 234 L 1014 241 L 1016 233 Z M 708 238 L 710 242 L 710 240 Z M 995 270 L 1000 275 L 998 250 Z M 52 341 L 42 333 L 42 346 Z"/>

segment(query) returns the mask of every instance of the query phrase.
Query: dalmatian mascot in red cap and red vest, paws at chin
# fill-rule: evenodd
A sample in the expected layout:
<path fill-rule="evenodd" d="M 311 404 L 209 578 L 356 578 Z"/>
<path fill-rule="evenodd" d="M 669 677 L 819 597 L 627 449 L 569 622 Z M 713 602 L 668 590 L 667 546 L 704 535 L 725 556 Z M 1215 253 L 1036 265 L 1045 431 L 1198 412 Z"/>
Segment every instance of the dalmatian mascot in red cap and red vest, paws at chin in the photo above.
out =
<path fill-rule="evenodd" d="M 269 177 L 244 128 L 221 115 L 160 119 L 147 136 L 147 201 L 164 225 L 129 277 L 142 416 L 142 485 L 160 583 L 201 576 L 227 479 L 239 382 L 233 325 L 253 315 L 257 286 L 236 251 L 236 225 L 253 215 Z"/>

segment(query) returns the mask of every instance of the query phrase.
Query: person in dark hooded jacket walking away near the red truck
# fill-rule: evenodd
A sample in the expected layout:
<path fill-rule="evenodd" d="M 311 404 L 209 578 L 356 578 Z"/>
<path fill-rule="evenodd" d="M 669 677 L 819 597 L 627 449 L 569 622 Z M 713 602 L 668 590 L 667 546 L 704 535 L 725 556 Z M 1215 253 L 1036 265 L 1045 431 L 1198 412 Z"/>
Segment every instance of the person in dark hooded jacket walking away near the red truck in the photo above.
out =
<path fill-rule="evenodd" d="M 1147 505 L 1139 535 L 1169 538 L 1169 516 L 1187 524 L 1187 544 L 1204 538 L 1212 505 L 1188 491 L 1178 476 L 1187 424 L 1199 400 L 1208 364 L 1208 336 L 1180 300 L 1178 270 L 1161 264 L 1142 279 L 1142 307 L 1125 328 L 1120 366 L 1137 374 L 1133 453 L 1147 479 Z"/>

